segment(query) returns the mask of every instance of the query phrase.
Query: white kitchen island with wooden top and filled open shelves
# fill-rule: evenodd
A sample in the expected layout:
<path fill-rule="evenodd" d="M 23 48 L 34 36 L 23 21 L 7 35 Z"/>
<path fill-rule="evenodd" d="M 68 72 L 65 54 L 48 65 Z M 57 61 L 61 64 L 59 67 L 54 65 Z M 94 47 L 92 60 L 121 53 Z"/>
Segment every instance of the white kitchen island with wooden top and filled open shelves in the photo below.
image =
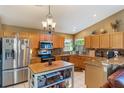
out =
<path fill-rule="evenodd" d="M 74 65 L 66 61 L 30 64 L 30 88 L 70 88 L 74 86 Z"/>

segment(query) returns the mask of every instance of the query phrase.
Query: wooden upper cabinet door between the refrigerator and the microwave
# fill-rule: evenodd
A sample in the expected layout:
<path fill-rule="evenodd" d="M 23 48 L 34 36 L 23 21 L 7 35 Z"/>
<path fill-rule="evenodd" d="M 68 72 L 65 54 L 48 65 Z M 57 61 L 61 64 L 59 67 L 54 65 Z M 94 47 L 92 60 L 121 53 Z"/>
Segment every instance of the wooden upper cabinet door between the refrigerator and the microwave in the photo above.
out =
<path fill-rule="evenodd" d="M 39 33 L 31 32 L 29 38 L 31 48 L 39 48 Z"/>

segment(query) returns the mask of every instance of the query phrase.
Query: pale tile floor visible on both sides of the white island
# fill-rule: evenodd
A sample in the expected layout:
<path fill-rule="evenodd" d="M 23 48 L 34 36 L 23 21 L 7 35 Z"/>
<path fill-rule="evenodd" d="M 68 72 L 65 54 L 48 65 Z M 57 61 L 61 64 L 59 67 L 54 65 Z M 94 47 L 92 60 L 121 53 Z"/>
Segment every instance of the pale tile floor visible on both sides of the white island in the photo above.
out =
<path fill-rule="evenodd" d="M 18 85 L 10 86 L 7 88 L 28 88 L 28 82 L 21 83 Z M 85 86 L 85 71 L 74 72 L 74 88 L 86 88 Z"/>

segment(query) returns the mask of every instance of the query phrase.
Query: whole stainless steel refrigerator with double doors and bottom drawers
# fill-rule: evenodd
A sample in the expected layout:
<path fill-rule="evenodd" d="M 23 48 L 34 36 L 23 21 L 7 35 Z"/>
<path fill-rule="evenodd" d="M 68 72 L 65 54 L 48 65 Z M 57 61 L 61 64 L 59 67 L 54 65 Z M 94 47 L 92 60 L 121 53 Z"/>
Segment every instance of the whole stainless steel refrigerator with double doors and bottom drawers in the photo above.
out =
<path fill-rule="evenodd" d="M 2 38 L 2 86 L 28 80 L 30 48 L 28 39 Z"/>

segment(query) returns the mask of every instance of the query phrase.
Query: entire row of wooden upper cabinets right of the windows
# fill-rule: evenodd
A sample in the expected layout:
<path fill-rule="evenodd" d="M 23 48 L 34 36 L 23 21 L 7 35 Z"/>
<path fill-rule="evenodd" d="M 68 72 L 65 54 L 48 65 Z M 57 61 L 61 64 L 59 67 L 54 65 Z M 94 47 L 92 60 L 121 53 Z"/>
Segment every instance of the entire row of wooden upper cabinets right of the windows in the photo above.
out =
<path fill-rule="evenodd" d="M 124 48 L 124 32 L 111 32 L 85 37 L 86 48 Z"/>

